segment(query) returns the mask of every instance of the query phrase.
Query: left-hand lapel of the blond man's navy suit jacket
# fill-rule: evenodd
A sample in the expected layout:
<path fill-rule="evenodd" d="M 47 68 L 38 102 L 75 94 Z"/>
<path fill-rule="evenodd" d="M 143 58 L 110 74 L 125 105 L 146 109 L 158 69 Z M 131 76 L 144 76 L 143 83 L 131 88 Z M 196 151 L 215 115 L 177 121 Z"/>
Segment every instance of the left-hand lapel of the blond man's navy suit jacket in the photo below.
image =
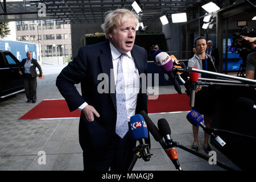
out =
<path fill-rule="evenodd" d="M 102 72 L 106 73 L 109 78 L 108 82 L 108 90 L 110 96 L 112 98 L 115 110 L 117 110 L 117 101 L 115 98 L 115 81 L 114 81 L 114 72 L 113 72 L 113 62 L 112 62 L 112 55 L 109 46 L 109 41 L 106 41 L 105 44 L 101 47 L 101 54 L 100 54 L 100 63 Z"/>

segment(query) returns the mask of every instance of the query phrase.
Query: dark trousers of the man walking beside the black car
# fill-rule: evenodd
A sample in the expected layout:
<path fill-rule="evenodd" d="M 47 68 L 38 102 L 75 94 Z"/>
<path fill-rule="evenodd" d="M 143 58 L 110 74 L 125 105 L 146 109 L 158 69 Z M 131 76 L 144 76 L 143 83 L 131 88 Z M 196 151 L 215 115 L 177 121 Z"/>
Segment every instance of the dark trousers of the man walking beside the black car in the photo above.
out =
<path fill-rule="evenodd" d="M 36 77 L 32 78 L 30 74 L 24 74 L 24 89 L 27 100 L 36 101 Z"/>

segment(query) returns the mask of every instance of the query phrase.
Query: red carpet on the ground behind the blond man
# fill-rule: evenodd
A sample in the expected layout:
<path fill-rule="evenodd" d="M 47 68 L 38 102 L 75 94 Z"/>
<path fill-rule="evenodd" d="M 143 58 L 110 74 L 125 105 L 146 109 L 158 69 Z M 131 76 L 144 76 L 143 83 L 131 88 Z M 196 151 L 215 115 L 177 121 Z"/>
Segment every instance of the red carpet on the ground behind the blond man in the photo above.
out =
<path fill-rule="evenodd" d="M 191 110 L 187 94 L 163 94 L 157 100 L 148 100 L 148 113 L 187 110 Z M 80 114 L 79 110 L 70 112 L 65 100 L 44 100 L 19 119 L 78 118 Z"/>

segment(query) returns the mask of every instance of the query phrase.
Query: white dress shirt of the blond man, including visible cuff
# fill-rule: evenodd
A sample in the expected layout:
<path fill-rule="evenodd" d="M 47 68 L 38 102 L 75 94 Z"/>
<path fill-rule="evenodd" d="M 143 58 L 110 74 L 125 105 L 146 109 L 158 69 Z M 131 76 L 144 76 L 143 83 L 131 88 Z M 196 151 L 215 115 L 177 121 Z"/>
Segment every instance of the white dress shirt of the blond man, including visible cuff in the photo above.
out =
<path fill-rule="evenodd" d="M 118 69 L 118 61 L 120 60 L 120 56 L 122 55 L 112 43 L 110 43 L 110 49 L 112 54 L 113 61 L 113 71 L 114 71 L 114 81 L 115 85 L 117 84 L 117 69 Z M 137 97 L 139 93 L 139 71 L 135 66 L 134 59 L 131 56 L 131 52 L 127 52 L 123 55 L 123 78 L 125 79 L 125 97 L 126 97 L 126 111 L 127 111 L 127 119 L 130 122 L 130 117 L 135 114 L 135 109 L 137 106 Z M 84 102 L 78 109 L 81 111 L 88 104 Z"/>

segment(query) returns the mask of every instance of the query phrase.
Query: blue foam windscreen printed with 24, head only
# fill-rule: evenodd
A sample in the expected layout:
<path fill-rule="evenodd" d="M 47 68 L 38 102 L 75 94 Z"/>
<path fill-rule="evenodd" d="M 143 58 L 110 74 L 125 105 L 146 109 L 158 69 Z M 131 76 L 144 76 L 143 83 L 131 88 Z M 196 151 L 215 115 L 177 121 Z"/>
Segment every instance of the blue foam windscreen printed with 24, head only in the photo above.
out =
<path fill-rule="evenodd" d="M 130 125 L 135 140 L 148 138 L 147 124 L 141 114 L 133 115 L 130 119 Z"/>

